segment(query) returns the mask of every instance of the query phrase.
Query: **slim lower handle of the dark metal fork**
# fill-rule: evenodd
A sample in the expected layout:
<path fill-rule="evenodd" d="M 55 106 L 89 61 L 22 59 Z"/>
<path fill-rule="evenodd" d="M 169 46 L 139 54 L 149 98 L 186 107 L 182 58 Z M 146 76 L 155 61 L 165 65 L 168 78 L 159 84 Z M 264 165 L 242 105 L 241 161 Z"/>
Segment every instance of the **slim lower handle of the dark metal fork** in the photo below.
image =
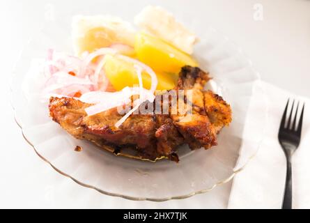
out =
<path fill-rule="evenodd" d="M 282 209 L 292 209 L 292 164 L 290 154 L 286 155 L 286 183 Z"/>

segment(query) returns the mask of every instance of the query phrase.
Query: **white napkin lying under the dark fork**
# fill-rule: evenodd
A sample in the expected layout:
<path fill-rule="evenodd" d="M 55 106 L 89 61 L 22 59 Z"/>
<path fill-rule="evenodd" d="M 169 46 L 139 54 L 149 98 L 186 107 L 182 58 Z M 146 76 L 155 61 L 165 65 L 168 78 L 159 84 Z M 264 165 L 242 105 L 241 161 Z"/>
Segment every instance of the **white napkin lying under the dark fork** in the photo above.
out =
<path fill-rule="evenodd" d="M 235 176 L 228 208 L 281 208 L 286 160 L 278 131 L 288 98 L 305 102 L 302 139 L 292 161 L 293 208 L 310 208 L 310 100 L 265 82 L 261 86 L 268 101 L 265 135 L 256 156 Z"/>

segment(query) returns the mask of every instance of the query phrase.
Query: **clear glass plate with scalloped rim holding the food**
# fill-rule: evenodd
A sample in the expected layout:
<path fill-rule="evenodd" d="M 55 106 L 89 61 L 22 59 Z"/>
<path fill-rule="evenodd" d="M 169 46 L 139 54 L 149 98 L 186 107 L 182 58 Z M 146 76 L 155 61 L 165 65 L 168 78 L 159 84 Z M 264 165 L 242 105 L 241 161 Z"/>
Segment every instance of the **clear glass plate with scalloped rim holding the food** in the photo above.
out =
<path fill-rule="evenodd" d="M 45 22 L 42 31 L 23 50 L 12 82 L 15 119 L 24 138 L 56 171 L 103 194 L 166 201 L 208 192 L 226 183 L 256 154 L 267 115 L 266 103 L 261 99 L 265 95 L 257 82 L 259 75 L 240 49 L 212 28 L 197 32 L 201 43 L 196 46 L 195 56 L 201 67 L 214 77 L 208 88 L 222 95 L 233 110 L 233 122 L 220 132 L 218 146 L 208 151 L 189 151 L 185 146 L 181 149 L 180 163 L 176 164 L 168 160 L 144 162 L 116 157 L 71 137 L 49 118 L 47 105 L 36 94 L 25 95 L 22 86 L 24 83 L 35 90 L 36 84 L 40 84 L 40 79 L 31 82 L 24 79 L 32 59 L 45 58 L 48 48 L 72 52 L 70 17 L 73 14 L 72 10 Z M 257 109 L 261 112 L 256 112 Z M 255 128 L 255 137 L 247 136 L 247 128 Z M 83 151 L 76 152 L 75 146 L 82 146 Z"/>

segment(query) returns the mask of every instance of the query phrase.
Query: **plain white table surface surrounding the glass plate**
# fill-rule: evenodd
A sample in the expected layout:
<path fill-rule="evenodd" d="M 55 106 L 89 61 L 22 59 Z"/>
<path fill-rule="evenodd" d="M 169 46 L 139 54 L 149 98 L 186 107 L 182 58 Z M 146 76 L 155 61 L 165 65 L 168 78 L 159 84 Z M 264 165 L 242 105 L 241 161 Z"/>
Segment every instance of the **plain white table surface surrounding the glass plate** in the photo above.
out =
<path fill-rule="evenodd" d="M 0 1 L 0 208 L 226 208 L 231 183 L 184 200 L 128 201 L 77 185 L 34 153 L 15 124 L 8 80 L 17 55 L 51 2 L 70 10 L 70 3 L 82 1 Z M 263 80 L 310 96 L 310 1 L 179 0 L 178 6 L 176 1 L 141 1 L 141 6 L 147 3 L 203 14 L 208 18 L 204 24 L 215 26 L 242 47 Z M 263 6 L 263 20 L 254 20 L 256 3 Z"/>

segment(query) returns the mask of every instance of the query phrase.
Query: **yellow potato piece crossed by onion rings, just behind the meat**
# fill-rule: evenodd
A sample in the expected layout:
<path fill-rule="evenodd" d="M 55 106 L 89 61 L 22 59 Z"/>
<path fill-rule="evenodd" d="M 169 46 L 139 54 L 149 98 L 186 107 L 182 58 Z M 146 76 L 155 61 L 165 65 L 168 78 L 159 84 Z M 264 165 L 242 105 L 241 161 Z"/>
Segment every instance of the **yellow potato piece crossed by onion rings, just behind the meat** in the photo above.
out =
<path fill-rule="evenodd" d="M 116 91 L 121 91 L 126 86 L 137 86 L 139 79 L 134 65 L 117 56 L 105 56 L 104 71 Z M 175 75 L 156 72 L 158 85 L 157 90 L 173 89 L 176 84 Z M 148 73 L 142 73 L 142 82 L 145 89 L 150 89 L 151 78 Z"/>

